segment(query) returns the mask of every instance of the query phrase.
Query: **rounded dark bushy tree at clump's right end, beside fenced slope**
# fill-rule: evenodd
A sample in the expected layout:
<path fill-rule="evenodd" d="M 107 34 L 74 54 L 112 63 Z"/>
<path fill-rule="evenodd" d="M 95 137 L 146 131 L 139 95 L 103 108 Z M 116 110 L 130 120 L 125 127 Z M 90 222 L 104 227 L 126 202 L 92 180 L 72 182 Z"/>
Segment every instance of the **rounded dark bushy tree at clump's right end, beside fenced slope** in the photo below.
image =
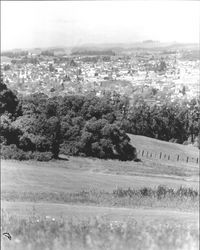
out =
<path fill-rule="evenodd" d="M 93 118 L 84 126 L 79 150 L 86 156 L 133 160 L 136 151 L 129 142 L 129 137 L 116 125 L 109 124 L 105 119 Z"/>

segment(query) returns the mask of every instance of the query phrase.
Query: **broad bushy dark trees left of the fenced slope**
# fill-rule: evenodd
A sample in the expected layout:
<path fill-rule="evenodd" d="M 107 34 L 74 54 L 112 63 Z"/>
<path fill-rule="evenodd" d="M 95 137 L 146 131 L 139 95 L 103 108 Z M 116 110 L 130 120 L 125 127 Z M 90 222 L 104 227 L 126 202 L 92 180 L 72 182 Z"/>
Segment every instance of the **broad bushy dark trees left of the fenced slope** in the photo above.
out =
<path fill-rule="evenodd" d="M 1 86 L 10 91 L 2 82 Z M 12 99 L 14 94 L 9 93 Z M 58 158 L 59 153 L 104 159 L 136 158 L 129 137 L 115 123 L 121 115 L 120 99 L 113 105 L 107 97 L 94 95 L 48 98 L 35 94 L 17 99 L 13 110 L 6 109 L 9 98 L 1 99 L 5 103 L 1 108 L 3 145 L 15 144 L 28 154 L 51 152 L 53 158 Z M 3 152 L 8 153 L 7 148 Z"/>

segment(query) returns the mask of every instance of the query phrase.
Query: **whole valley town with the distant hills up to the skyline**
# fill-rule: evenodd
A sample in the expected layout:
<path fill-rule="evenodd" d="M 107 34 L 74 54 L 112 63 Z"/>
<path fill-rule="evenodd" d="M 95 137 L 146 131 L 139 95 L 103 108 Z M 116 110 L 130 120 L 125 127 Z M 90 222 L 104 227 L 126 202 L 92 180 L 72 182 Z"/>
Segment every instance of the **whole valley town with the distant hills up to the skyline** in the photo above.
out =
<path fill-rule="evenodd" d="M 120 47 L 121 46 L 121 47 Z M 133 45 L 3 51 L 1 72 L 21 95 L 120 94 L 150 104 L 198 98 L 197 44 L 144 41 Z"/>

